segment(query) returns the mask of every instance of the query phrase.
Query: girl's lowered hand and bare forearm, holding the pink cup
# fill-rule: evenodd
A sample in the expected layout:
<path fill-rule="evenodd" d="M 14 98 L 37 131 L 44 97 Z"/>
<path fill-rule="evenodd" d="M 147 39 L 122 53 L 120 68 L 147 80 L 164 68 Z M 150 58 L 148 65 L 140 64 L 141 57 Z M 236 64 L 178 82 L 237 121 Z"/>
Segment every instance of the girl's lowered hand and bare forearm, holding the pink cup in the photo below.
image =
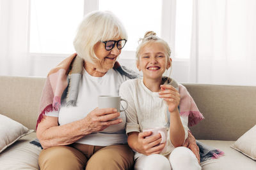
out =
<path fill-rule="evenodd" d="M 128 143 L 132 149 L 144 155 L 160 153 L 166 143 L 161 143 L 161 134 L 150 136 L 152 132 L 131 132 L 128 136 Z M 146 138 L 148 137 L 148 138 Z"/>

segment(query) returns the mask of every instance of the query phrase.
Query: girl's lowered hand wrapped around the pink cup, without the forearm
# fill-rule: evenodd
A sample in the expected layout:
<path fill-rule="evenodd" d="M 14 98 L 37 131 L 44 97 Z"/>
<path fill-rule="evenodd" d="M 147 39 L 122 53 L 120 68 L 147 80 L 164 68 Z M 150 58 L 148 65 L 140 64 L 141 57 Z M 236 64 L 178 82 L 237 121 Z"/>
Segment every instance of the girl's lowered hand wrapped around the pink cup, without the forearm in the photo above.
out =
<path fill-rule="evenodd" d="M 151 155 L 154 153 L 158 154 L 163 150 L 166 143 L 161 143 L 161 134 L 150 136 L 151 134 L 152 132 L 150 131 L 140 132 L 138 134 L 137 152 L 143 153 L 144 155 Z"/>

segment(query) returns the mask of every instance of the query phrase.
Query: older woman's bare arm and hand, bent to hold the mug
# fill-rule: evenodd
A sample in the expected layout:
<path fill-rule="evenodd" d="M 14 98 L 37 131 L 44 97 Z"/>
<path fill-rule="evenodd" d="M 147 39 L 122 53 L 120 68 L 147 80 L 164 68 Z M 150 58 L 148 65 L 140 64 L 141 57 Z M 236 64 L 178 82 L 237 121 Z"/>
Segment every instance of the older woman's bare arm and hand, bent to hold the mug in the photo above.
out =
<path fill-rule="evenodd" d="M 109 125 L 119 124 L 122 122 L 121 118 L 112 120 L 119 116 L 120 113 L 114 108 L 96 108 L 83 119 L 60 126 L 58 125 L 58 117 L 45 116 L 42 122 L 38 124 L 36 136 L 43 148 L 69 145 L 92 132 L 99 132 Z"/>

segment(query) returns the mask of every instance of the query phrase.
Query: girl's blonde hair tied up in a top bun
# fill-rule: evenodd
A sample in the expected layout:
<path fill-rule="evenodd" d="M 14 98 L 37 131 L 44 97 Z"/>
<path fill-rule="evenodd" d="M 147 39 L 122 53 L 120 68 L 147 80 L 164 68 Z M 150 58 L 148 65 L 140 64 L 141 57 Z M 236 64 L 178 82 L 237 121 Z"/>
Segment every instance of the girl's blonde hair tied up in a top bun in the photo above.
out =
<path fill-rule="evenodd" d="M 139 60 L 141 49 L 143 49 L 146 45 L 150 43 L 162 43 L 165 49 L 165 55 L 167 60 L 171 56 L 172 51 L 168 43 L 166 43 L 166 41 L 156 36 L 156 32 L 154 31 L 147 31 L 144 35 L 144 38 L 140 38 L 138 42 L 139 42 L 139 45 L 137 46 L 137 50 L 136 50 L 136 62 L 138 62 Z"/>

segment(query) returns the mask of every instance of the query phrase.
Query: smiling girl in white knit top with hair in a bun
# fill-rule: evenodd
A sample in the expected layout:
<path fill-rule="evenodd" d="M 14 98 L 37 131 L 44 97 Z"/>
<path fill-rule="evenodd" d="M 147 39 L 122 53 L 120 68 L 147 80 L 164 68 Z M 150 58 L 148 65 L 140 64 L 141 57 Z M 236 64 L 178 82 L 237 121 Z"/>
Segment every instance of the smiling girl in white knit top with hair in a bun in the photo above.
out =
<path fill-rule="evenodd" d="M 163 77 L 172 65 L 170 53 L 155 32 L 146 32 L 136 51 L 143 79 L 127 80 L 120 87 L 120 96 L 128 101 L 126 133 L 135 151 L 134 169 L 201 169 L 193 152 L 182 147 L 188 138 L 188 117 L 180 117 L 178 84 Z M 161 134 L 143 132 L 148 127 L 166 127 L 166 142 L 161 143 Z"/>

